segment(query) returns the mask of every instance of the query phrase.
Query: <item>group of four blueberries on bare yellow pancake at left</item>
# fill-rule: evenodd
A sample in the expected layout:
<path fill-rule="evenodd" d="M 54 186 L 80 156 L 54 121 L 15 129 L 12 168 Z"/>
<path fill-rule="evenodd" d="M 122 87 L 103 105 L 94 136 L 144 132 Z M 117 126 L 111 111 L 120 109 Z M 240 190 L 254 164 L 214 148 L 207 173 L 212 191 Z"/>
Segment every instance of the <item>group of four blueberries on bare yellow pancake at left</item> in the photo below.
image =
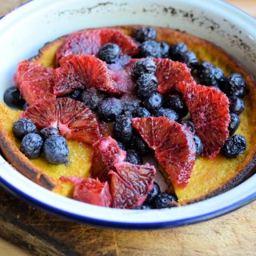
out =
<path fill-rule="evenodd" d="M 44 154 L 52 164 L 67 163 L 70 150 L 66 139 L 52 127 L 42 129 L 39 134 L 34 123 L 27 118 L 19 119 L 13 125 L 14 136 L 20 140 L 20 150 L 27 158 L 35 159 Z"/>

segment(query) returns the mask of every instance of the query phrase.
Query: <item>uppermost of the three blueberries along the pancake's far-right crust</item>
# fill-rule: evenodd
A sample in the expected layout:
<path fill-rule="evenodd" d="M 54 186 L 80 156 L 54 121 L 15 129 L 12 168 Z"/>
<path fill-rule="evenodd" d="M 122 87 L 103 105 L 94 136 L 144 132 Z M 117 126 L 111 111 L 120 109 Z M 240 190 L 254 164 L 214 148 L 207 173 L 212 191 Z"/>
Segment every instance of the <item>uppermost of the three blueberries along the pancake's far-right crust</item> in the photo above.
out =
<path fill-rule="evenodd" d="M 246 82 L 241 74 L 234 73 L 226 77 L 224 85 L 222 86 L 223 92 L 228 96 L 237 96 L 242 98 L 245 95 Z"/>

